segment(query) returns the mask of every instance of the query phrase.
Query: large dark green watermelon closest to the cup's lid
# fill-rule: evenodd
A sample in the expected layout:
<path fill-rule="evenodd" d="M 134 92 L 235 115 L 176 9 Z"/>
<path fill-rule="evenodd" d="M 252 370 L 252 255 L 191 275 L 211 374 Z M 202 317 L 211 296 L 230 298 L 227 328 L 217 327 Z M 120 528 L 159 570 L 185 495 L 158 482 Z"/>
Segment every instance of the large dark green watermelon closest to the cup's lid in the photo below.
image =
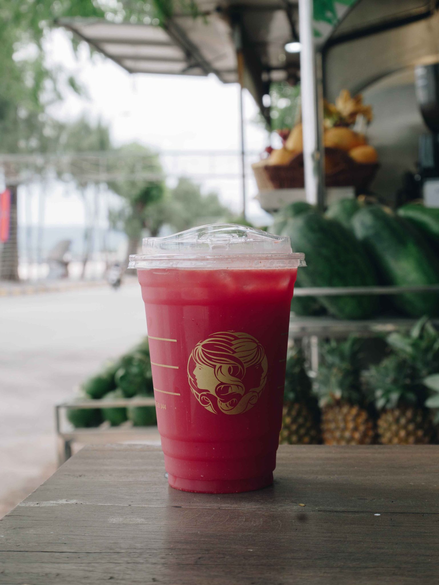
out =
<path fill-rule="evenodd" d="M 298 270 L 302 287 L 370 286 L 376 284 L 374 267 L 354 235 L 333 219 L 309 212 L 289 219 L 283 235 L 294 252 L 305 252 L 307 267 Z M 378 299 L 369 295 L 318 297 L 331 315 L 364 319 L 378 312 Z"/>

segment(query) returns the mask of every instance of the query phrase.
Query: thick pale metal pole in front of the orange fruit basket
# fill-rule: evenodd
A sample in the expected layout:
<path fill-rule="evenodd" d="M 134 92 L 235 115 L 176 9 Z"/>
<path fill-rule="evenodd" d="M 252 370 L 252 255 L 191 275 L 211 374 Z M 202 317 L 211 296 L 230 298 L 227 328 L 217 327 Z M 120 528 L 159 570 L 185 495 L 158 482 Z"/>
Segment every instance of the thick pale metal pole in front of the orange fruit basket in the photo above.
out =
<path fill-rule="evenodd" d="M 322 130 L 319 125 L 316 54 L 313 33 L 313 2 L 299 0 L 300 87 L 302 92 L 303 164 L 305 166 L 306 201 L 324 207 L 324 156 Z"/>

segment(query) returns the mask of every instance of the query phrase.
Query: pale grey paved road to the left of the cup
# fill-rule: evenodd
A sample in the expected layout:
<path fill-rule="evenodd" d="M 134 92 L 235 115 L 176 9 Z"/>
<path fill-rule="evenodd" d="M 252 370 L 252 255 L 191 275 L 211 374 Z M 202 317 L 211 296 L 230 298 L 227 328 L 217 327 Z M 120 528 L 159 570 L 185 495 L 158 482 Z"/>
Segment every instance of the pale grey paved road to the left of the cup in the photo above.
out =
<path fill-rule="evenodd" d="M 0 517 L 54 469 L 53 405 L 145 334 L 137 283 L 0 299 Z"/>

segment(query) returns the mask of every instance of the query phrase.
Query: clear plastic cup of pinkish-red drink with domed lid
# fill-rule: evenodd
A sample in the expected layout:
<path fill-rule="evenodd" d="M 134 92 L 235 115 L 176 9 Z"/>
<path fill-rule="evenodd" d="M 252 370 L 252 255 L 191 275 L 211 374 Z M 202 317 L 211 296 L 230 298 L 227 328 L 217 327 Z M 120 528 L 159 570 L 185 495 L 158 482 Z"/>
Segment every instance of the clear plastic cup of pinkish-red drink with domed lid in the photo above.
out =
<path fill-rule="evenodd" d="M 146 238 L 130 256 L 170 486 L 236 493 L 272 483 L 304 257 L 289 238 L 231 224 Z"/>

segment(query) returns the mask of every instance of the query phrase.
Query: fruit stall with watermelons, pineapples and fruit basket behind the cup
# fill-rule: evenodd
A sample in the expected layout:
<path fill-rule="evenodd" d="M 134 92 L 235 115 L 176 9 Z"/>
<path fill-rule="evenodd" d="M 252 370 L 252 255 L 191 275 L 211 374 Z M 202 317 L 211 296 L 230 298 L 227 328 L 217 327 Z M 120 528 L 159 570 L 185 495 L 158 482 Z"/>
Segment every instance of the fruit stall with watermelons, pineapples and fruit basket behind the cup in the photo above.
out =
<path fill-rule="evenodd" d="M 274 41 L 267 31 L 258 31 L 258 45 L 251 49 L 251 43 L 250 48 L 243 43 L 230 47 L 232 36 L 241 41 L 253 38 L 256 20 L 248 17 L 251 6 L 240 18 L 227 21 L 234 23 L 236 34 L 217 37 L 219 30 L 224 33 L 227 10 L 233 8 L 235 16 L 239 12 L 229 3 L 226 12 L 208 15 L 215 22 L 221 19 L 222 28 L 214 27 L 210 39 L 205 35 L 202 42 L 193 36 L 198 52 L 193 43 L 185 43 L 186 57 L 191 56 L 197 74 L 213 72 L 224 82 L 240 81 L 268 121 L 269 108 L 262 98 L 268 96 L 270 84 L 276 80 L 293 84 L 300 74 L 301 115 L 288 128 L 279 129 L 276 144 L 253 164 L 257 198 L 274 216 L 269 230 L 289 236 L 293 252 L 304 252 L 307 261 L 306 269 L 298 272 L 291 305 L 280 438 L 285 443 L 439 441 L 439 200 L 434 205 L 430 196 L 439 160 L 435 152 L 427 154 L 436 167 L 420 159 L 414 176 L 422 187 L 417 197 L 405 194 L 396 204 L 390 197 L 378 196 L 374 180 L 381 169 L 387 172 L 386 149 L 374 143 L 377 132 L 369 132 L 375 112 L 361 93 L 399 68 L 436 59 L 430 54 L 428 30 L 437 30 L 437 12 L 430 5 L 424 11 L 417 6 L 415 11 L 416 3 L 410 1 L 403 2 L 400 11 L 390 4 L 375 3 L 373 18 L 369 14 L 367 20 L 361 12 L 364 2 L 358 2 L 345 11 L 344 18 L 335 19 L 317 42 L 309 2 L 300 0 L 299 18 L 285 7 L 267 4 L 259 10 L 267 11 L 268 19 L 282 12 L 287 32 L 285 26 L 279 27 Z M 280 37 L 283 45 L 297 36 L 288 24 L 292 20 L 299 25 L 300 60 L 297 54 L 285 53 L 285 59 L 279 59 L 284 66 L 269 63 L 264 55 L 274 53 L 263 47 L 275 44 L 278 54 Z M 101 33 L 95 24 L 64 24 L 92 39 L 99 49 Z M 182 32 L 191 40 L 198 27 L 193 22 L 189 26 L 181 15 L 168 24 L 167 42 L 172 46 L 179 44 Z M 179 35 L 175 35 L 177 25 Z M 108 40 L 112 26 L 117 27 L 105 25 L 102 38 Z M 406 32 L 410 32 L 410 47 L 404 44 Z M 128 31 L 127 39 L 128 46 Z M 383 39 L 400 50 L 386 51 Z M 149 46 L 152 40 L 139 37 L 142 42 Z M 223 67 L 200 59 L 215 43 L 227 47 Z M 361 52 L 364 46 L 367 53 Z M 122 57 L 117 59 L 123 65 Z M 147 71 L 150 62 L 150 58 L 143 65 L 138 61 L 137 67 Z M 178 74 L 187 74 L 186 66 L 182 63 L 184 73 Z M 439 95 L 436 98 L 437 112 Z M 422 107 L 421 112 L 424 115 Z M 426 116 L 424 120 L 434 132 L 434 123 Z M 244 158 L 243 149 L 243 163 Z M 245 202 L 244 187 L 243 198 Z M 142 342 L 85 381 L 76 403 L 58 405 L 61 459 L 81 436 L 94 440 L 94 429 L 96 436 L 105 433 L 106 438 L 116 433 L 139 437 L 151 429 L 148 425 L 155 421 L 150 370 L 147 342 Z M 73 430 L 62 430 L 64 417 Z"/>

